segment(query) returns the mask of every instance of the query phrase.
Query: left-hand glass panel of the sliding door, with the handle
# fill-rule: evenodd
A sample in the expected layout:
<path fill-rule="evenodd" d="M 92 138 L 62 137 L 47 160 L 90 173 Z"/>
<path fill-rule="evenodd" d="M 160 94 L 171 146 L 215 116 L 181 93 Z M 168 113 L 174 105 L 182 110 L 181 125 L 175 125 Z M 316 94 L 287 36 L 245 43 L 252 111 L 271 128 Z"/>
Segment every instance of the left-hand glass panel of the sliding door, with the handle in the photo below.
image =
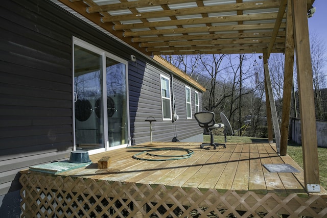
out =
<path fill-rule="evenodd" d="M 102 56 L 74 46 L 76 149 L 104 148 Z"/>

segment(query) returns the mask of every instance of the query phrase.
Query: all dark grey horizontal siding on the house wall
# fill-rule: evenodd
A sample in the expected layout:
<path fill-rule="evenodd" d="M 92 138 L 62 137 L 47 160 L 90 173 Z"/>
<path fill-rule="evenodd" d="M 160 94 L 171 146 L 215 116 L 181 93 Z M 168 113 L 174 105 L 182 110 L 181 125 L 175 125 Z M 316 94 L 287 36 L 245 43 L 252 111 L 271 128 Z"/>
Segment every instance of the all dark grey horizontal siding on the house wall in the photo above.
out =
<path fill-rule="evenodd" d="M 171 72 L 155 61 L 48 0 L 3 0 L 0 10 L 0 202 L 1 196 L 19 190 L 20 170 L 67 159 L 73 149 L 73 36 L 125 60 L 136 56 L 136 62 L 128 62 L 134 142 L 149 141 L 148 116 L 157 120 L 153 140 L 171 141 L 174 125 L 180 139 L 202 133 L 195 119 L 186 120 L 182 112 L 185 84 L 178 77 L 173 84 L 180 118 L 162 121 L 160 74 L 170 77 Z"/>

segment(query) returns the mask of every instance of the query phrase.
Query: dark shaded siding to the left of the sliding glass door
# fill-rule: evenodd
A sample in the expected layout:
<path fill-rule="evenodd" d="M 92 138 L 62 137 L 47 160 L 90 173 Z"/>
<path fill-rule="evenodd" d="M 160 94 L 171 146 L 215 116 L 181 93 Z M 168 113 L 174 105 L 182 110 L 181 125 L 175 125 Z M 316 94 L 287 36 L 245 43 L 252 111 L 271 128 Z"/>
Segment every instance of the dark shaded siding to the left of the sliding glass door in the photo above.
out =
<path fill-rule="evenodd" d="M 2 3 L 0 195 L 19 189 L 19 170 L 67 158 L 73 148 L 71 33 L 49 19 L 44 3 Z"/>

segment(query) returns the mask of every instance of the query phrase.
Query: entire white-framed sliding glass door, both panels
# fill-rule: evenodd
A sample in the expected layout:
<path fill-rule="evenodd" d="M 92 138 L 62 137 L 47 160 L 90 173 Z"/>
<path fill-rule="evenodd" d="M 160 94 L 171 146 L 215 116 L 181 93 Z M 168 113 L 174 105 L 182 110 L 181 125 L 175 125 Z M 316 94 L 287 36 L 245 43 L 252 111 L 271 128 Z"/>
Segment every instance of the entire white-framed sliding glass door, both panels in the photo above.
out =
<path fill-rule="evenodd" d="M 76 150 L 108 150 L 128 143 L 126 62 L 74 41 Z"/>

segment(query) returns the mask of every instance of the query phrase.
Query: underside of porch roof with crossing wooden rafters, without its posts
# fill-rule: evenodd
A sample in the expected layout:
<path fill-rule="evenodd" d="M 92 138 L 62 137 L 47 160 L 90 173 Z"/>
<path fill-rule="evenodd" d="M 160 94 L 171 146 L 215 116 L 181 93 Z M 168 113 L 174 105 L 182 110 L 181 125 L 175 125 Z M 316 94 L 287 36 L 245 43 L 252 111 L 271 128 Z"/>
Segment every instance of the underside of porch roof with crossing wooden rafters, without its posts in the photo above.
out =
<path fill-rule="evenodd" d="M 58 1 L 148 55 L 285 52 L 285 0 Z"/>

